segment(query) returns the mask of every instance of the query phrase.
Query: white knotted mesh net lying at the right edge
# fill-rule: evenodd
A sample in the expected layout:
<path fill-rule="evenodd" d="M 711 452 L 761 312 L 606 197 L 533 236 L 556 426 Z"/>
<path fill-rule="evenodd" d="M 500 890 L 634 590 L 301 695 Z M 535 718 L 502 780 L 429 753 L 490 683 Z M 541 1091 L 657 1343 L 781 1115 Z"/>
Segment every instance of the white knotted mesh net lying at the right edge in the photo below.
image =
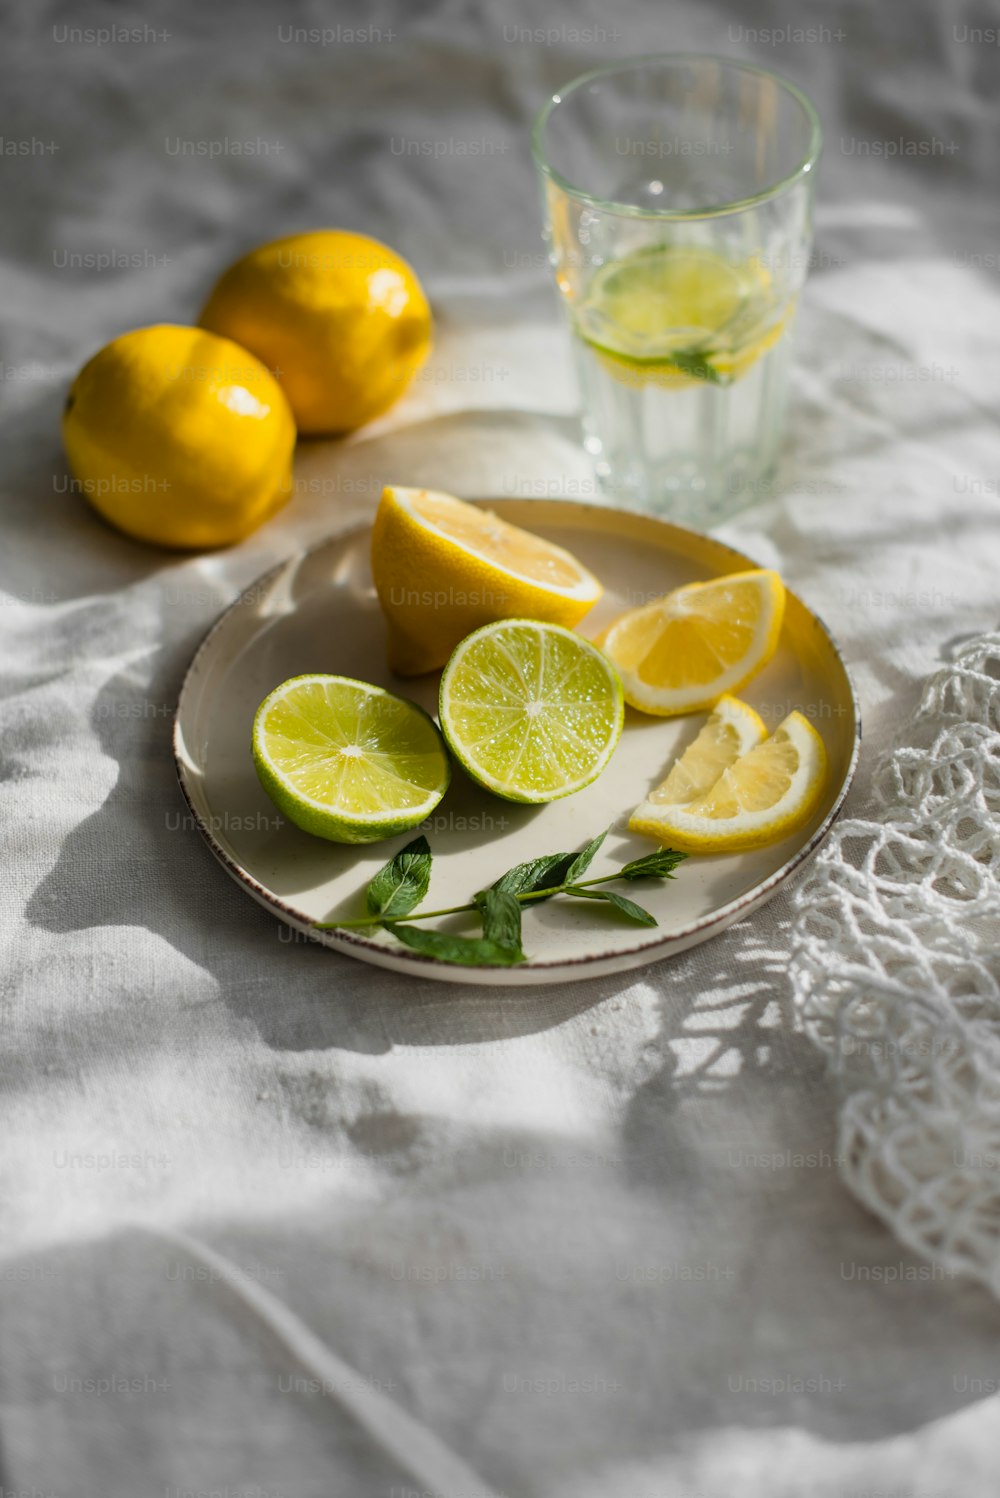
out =
<path fill-rule="evenodd" d="M 1000 1296 L 1000 634 L 928 682 L 795 891 L 792 987 L 850 1189 Z"/>

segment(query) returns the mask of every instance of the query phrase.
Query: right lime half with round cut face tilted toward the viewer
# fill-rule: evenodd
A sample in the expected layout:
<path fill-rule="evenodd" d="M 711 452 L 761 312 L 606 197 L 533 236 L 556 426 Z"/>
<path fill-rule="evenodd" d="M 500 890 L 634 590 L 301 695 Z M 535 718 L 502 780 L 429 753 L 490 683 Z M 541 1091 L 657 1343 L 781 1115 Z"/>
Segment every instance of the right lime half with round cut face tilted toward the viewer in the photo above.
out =
<path fill-rule="evenodd" d="M 440 688 L 445 739 L 507 801 L 554 801 L 596 780 L 621 736 L 611 662 L 558 625 L 504 619 L 455 647 Z"/>

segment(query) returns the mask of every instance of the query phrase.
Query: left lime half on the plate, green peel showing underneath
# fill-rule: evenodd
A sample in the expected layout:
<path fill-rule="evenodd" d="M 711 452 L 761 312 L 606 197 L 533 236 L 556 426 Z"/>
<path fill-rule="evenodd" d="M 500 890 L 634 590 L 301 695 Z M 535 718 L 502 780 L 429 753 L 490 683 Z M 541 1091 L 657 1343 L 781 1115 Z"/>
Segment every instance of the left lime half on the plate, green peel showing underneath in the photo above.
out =
<path fill-rule="evenodd" d="M 418 827 L 451 779 L 422 707 L 346 676 L 293 676 L 275 686 L 253 719 L 253 762 L 290 822 L 347 843 Z"/>

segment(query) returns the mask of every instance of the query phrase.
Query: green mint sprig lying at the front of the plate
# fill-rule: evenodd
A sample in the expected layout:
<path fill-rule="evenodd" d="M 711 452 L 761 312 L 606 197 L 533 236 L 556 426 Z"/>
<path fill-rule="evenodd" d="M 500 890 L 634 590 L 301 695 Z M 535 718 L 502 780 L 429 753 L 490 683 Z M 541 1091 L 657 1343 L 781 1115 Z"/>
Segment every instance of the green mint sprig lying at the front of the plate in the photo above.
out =
<path fill-rule="evenodd" d="M 581 879 L 606 836 L 606 831 L 600 833 L 578 852 L 552 852 L 540 858 L 530 858 L 527 863 L 518 863 L 513 869 L 501 873 L 488 890 L 479 890 L 467 905 L 452 905 L 440 911 L 416 909 L 430 887 L 431 849 L 427 837 L 415 837 L 385 867 L 379 869 L 368 884 L 365 891 L 367 917 L 355 921 L 317 921 L 316 929 L 364 930 L 380 926 L 404 947 L 428 957 L 437 957 L 440 962 L 470 968 L 510 968 L 527 962 L 521 945 L 522 906 L 536 900 L 551 900 L 555 894 L 578 900 L 597 900 L 638 926 L 656 926 L 656 917 L 636 905 L 635 900 L 626 899 L 615 890 L 596 890 L 593 887 L 609 884 L 614 879 L 629 882 L 672 879 L 674 870 L 687 854 L 672 848 L 660 848 L 642 858 L 633 858 L 611 873 Z M 479 917 L 482 936 L 460 936 L 454 932 L 425 930 L 412 924 L 437 915 L 463 915 L 466 912 Z M 407 915 L 409 920 L 403 921 L 403 915 Z"/>

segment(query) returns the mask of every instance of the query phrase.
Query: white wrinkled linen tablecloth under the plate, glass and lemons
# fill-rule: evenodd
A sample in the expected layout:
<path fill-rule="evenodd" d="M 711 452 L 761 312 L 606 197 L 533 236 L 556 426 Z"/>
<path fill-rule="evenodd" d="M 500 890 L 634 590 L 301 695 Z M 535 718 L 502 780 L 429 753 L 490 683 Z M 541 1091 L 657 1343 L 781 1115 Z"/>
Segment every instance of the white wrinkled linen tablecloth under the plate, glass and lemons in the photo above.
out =
<path fill-rule="evenodd" d="M 701 48 L 787 72 L 826 124 L 783 482 L 725 535 L 841 641 L 864 809 L 921 680 L 997 620 L 997 24 L 934 0 L 9 19 L 4 1498 L 996 1494 L 1000 1312 L 840 1183 L 783 899 L 621 980 L 404 983 L 225 876 L 169 736 L 214 616 L 386 478 L 588 491 L 528 120 L 609 55 Z M 304 446 L 293 505 L 231 551 L 112 533 L 66 491 L 67 379 L 322 225 L 418 267 L 427 377 Z"/>

